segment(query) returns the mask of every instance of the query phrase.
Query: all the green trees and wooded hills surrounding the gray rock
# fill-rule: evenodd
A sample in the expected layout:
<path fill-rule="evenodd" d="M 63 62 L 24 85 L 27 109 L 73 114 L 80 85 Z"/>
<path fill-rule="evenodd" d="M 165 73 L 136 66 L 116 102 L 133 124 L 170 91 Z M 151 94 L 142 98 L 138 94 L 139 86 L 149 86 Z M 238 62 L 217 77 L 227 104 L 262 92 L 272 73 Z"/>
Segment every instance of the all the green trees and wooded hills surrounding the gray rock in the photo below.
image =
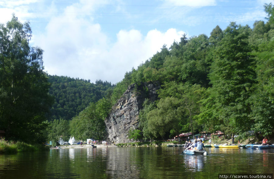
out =
<path fill-rule="evenodd" d="M 182 35 L 180 42 L 163 45 L 115 86 L 45 74 L 42 50 L 28 46 L 29 24 L 13 17 L 0 26 L 0 130 L 29 141 L 31 136 L 37 136 L 35 141 L 60 136 L 67 141 L 71 135 L 102 140 L 107 135 L 104 119 L 128 85 L 157 81 L 158 100 L 146 100 L 139 115 L 144 139 L 202 130 L 240 138 L 254 130 L 270 137 L 274 6 L 265 4 L 265 12 L 267 22 L 255 21 L 252 28 L 231 22 L 226 29 L 217 25 L 209 37 Z M 50 111 L 52 116 L 46 116 Z"/>

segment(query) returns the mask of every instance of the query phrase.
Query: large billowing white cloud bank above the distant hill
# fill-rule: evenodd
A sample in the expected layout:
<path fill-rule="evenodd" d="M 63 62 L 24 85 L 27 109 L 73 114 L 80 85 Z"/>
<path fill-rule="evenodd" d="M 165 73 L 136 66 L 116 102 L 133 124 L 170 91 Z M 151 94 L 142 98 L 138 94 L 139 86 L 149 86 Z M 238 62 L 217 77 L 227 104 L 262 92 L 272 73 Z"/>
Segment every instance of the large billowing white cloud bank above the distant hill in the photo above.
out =
<path fill-rule="evenodd" d="M 169 47 L 174 39 L 179 41 L 185 32 L 156 29 L 145 36 L 138 30 L 121 30 L 117 41 L 108 43 L 100 25 L 81 23 L 62 24 L 60 18 L 52 20 L 47 33 L 40 37 L 44 49 L 45 70 L 52 75 L 96 79 L 117 83 L 125 72 L 137 68 L 152 57 L 163 44 Z M 77 22 L 75 19 L 74 22 Z M 88 24 L 88 25 L 83 25 Z"/>

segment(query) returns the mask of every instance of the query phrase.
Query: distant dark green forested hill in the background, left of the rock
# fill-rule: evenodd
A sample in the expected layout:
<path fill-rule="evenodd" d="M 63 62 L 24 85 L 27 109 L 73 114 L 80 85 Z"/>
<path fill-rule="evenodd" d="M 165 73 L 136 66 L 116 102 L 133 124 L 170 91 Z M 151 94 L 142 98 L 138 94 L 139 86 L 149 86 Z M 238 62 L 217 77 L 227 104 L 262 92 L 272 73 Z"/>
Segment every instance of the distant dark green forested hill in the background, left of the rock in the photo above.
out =
<path fill-rule="evenodd" d="M 51 83 L 49 93 L 54 97 L 48 120 L 71 120 L 84 110 L 89 103 L 96 103 L 101 98 L 110 98 L 114 85 L 102 80 L 90 83 L 90 80 L 67 76 L 48 75 Z"/>

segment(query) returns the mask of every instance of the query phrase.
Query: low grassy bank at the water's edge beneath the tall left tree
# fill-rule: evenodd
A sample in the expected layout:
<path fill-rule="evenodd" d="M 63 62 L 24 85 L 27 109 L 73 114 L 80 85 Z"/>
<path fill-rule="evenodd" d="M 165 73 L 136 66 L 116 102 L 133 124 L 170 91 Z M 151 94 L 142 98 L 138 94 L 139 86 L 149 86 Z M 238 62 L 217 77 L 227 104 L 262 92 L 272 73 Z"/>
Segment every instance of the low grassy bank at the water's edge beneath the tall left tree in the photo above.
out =
<path fill-rule="evenodd" d="M 47 150 L 47 148 L 40 144 L 31 145 L 21 141 L 0 139 L 0 154 L 15 154 L 17 152 L 32 152 L 37 150 Z"/>

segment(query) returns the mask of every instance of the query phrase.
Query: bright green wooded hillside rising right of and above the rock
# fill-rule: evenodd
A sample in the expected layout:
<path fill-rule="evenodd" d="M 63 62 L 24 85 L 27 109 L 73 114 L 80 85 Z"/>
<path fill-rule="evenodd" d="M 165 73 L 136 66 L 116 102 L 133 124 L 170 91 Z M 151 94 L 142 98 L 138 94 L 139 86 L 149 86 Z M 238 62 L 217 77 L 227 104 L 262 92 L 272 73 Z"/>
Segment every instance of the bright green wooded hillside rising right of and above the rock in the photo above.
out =
<path fill-rule="evenodd" d="M 274 134 L 274 6 L 253 28 L 231 22 L 210 36 L 181 37 L 163 46 L 138 69 L 125 74 L 111 96 L 116 101 L 132 83 L 158 81 L 159 100 L 140 112 L 145 138 L 221 130 L 245 136 Z M 112 104 L 113 105 L 113 104 Z"/>

